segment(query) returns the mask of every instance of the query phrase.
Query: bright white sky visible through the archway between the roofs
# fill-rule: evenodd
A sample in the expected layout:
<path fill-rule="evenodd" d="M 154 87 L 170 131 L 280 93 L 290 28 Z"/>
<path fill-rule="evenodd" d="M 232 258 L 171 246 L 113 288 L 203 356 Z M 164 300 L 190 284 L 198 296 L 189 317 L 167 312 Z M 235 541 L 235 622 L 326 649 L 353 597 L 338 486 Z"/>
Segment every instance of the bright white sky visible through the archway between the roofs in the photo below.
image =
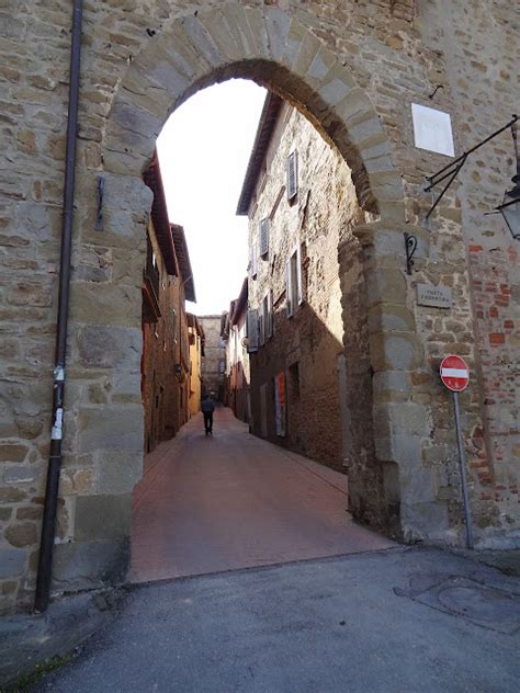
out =
<path fill-rule="evenodd" d="M 197 92 L 157 140 L 170 221 L 184 227 L 196 315 L 237 298 L 248 264 L 247 217 L 235 215 L 265 90 L 231 80 Z"/>

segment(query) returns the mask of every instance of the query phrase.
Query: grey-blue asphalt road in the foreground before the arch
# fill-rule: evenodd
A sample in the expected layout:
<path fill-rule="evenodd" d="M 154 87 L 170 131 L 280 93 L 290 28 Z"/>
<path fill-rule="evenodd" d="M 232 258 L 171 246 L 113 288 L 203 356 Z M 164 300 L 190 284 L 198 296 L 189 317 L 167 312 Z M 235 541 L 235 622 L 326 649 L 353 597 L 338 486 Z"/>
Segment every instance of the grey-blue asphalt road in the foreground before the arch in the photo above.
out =
<path fill-rule="evenodd" d="M 519 591 L 403 547 L 138 587 L 36 690 L 517 693 Z"/>

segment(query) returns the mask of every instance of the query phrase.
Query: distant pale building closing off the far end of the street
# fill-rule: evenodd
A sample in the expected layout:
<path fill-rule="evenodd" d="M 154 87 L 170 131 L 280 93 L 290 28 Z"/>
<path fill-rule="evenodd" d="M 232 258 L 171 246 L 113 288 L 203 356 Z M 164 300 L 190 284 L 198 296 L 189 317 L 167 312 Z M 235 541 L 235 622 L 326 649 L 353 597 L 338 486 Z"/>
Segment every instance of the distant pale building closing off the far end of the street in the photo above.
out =
<path fill-rule="evenodd" d="M 226 349 L 221 337 L 222 315 L 199 316 L 204 330 L 204 356 L 202 359 L 202 396 L 210 395 L 224 401 Z"/>

